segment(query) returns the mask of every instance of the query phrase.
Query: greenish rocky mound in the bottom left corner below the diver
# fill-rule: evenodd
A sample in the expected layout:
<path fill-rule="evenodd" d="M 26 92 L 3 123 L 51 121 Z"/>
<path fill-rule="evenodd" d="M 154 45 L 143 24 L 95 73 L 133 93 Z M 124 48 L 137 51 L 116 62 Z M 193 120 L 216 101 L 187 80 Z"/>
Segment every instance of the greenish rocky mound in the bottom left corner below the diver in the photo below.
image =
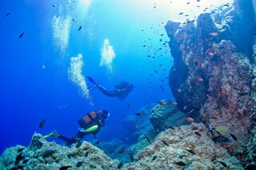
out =
<path fill-rule="evenodd" d="M 0 157 L 0 169 L 116 169 L 118 160 L 111 160 L 89 142 L 71 148 L 47 142 L 35 133 L 28 148 L 7 148 Z"/>

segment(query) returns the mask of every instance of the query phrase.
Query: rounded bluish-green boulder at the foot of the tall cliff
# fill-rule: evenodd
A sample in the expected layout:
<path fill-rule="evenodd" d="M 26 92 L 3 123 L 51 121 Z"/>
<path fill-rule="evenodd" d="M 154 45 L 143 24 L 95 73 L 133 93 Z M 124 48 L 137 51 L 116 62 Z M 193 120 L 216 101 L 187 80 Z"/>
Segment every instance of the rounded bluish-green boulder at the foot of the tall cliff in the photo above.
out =
<path fill-rule="evenodd" d="M 182 113 L 176 105 L 170 101 L 161 101 L 150 110 L 150 122 L 158 132 L 186 124 L 185 113 Z"/>

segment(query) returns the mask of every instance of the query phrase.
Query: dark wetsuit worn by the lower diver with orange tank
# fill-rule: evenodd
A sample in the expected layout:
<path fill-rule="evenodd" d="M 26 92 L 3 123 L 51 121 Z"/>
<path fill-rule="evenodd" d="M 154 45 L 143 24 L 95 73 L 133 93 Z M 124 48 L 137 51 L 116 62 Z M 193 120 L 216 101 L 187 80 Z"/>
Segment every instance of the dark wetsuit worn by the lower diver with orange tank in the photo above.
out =
<path fill-rule="evenodd" d="M 64 140 L 66 141 L 66 145 L 70 145 L 70 144 L 74 144 L 78 141 L 80 141 L 84 136 L 86 135 L 90 135 L 90 134 L 93 134 L 93 135 L 96 135 L 100 129 L 102 128 L 103 125 L 105 125 L 105 119 L 97 113 L 97 117 L 96 119 L 94 119 L 93 121 L 91 121 L 88 125 L 86 125 L 86 127 L 80 127 L 80 128 L 90 128 L 94 125 L 98 125 L 98 128 L 97 130 L 95 130 L 94 132 L 81 132 L 81 131 L 78 131 L 78 133 L 73 136 L 73 137 L 66 137 L 66 136 L 62 136 L 62 135 L 59 135 L 58 138 L 61 139 L 61 140 Z"/>

